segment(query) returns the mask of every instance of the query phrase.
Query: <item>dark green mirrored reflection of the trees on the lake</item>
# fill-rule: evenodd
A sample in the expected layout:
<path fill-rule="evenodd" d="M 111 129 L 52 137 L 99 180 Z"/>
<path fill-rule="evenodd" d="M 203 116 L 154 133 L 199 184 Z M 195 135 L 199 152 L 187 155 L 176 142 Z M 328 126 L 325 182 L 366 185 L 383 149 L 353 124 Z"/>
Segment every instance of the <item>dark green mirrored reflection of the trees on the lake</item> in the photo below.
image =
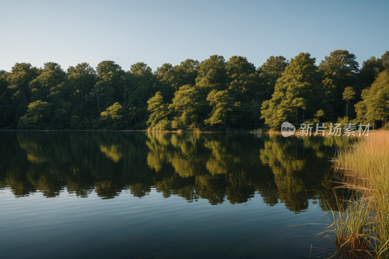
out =
<path fill-rule="evenodd" d="M 244 203 L 261 195 L 269 206 L 308 208 L 308 199 L 333 195 L 329 157 L 352 138 L 248 133 L 155 132 L 0 133 L 0 188 L 16 197 L 67 190 L 102 199 L 124 190 L 136 197 L 155 188 L 192 202 Z"/>

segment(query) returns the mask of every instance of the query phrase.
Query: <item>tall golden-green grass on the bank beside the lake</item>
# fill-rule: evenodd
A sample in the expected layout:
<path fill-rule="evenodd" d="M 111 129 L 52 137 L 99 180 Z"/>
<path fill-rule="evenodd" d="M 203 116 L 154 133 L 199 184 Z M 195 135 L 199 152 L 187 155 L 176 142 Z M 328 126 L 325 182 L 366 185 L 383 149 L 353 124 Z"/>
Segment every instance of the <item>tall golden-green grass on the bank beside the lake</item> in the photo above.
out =
<path fill-rule="evenodd" d="M 348 187 L 369 200 L 375 212 L 376 248 L 384 251 L 389 247 L 389 132 L 373 132 L 362 138 L 338 151 L 335 168 Z M 382 255 L 388 257 L 389 249 Z"/>

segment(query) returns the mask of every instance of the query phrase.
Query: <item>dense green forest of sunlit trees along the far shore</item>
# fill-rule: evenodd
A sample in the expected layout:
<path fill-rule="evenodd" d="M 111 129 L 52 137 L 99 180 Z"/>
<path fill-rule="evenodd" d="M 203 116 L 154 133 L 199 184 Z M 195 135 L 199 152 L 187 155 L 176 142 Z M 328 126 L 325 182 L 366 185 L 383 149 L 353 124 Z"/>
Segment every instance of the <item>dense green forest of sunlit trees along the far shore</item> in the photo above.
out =
<path fill-rule="evenodd" d="M 0 128 L 21 130 L 231 131 L 278 129 L 283 121 L 370 122 L 389 116 L 389 52 L 360 68 L 336 50 L 318 65 L 309 53 L 271 56 L 259 68 L 246 57 L 213 55 L 163 64 L 113 61 L 66 71 L 16 63 L 0 70 Z"/>

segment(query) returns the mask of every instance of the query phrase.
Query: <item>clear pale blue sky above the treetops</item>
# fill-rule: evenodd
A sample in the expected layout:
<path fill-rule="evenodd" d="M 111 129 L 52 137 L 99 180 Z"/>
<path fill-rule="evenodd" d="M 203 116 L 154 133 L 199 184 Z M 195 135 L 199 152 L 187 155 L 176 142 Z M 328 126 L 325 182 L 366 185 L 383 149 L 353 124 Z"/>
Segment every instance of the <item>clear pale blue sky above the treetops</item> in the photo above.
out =
<path fill-rule="evenodd" d="M 389 1 L 0 1 L 0 69 L 18 62 L 67 69 L 113 60 L 153 70 L 218 54 L 248 58 L 334 50 L 362 62 L 389 50 Z"/>

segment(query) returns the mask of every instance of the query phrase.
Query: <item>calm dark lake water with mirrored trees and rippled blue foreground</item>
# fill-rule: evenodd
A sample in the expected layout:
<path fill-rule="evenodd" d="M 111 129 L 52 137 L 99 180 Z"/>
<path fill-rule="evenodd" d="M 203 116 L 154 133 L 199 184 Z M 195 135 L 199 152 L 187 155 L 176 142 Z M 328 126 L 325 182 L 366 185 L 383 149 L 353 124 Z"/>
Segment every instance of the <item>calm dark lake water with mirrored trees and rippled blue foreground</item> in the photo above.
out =
<path fill-rule="evenodd" d="M 328 223 L 322 198 L 333 202 L 328 160 L 347 138 L 1 131 L 0 139 L 2 258 L 327 258 L 334 248 L 317 234 Z"/>

